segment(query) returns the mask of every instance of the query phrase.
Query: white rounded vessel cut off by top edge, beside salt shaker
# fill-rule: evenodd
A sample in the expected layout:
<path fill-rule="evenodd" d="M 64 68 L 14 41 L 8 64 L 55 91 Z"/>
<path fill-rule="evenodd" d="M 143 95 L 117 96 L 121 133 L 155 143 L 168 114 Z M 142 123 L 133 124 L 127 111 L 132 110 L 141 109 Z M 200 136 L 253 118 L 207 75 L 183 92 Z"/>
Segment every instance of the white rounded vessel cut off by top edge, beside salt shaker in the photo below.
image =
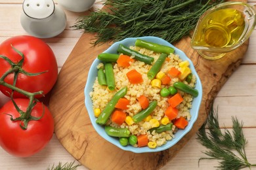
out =
<path fill-rule="evenodd" d="M 93 7 L 96 0 L 58 0 L 64 9 L 73 12 L 85 12 Z"/>

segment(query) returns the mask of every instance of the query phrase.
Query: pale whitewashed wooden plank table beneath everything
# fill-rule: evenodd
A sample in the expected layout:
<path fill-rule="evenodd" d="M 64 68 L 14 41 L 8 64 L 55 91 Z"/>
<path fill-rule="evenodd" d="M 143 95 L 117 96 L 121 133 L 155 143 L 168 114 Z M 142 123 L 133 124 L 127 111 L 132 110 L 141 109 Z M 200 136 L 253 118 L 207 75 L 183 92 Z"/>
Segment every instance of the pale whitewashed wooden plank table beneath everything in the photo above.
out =
<path fill-rule="evenodd" d="M 22 2 L 22 0 L 0 0 L 0 43 L 12 36 L 28 35 L 20 25 Z M 55 2 L 58 5 L 58 2 Z M 248 2 L 252 5 L 256 4 L 256 1 Z M 95 8 L 100 7 L 102 6 L 98 0 L 95 3 Z M 74 25 L 75 20 L 83 13 L 67 10 L 65 12 L 68 25 L 64 32 L 54 38 L 44 40 L 53 49 L 59 70 L 82 34 L 81 30 L 74 30 L 70 26 Z M 0 97 L 5 100 L 3 95 L 0 94 Z M 0 102 L 1 105 L 3 105 L 3 101 Z M 251 35 L 249 49 L 242 65 L 217 95 L 215 107 L 217 106 L 219 107 L 219 122 L 222 127 L 232 127 L 232 116 L 236 116 L 244 122 L 244 133 L 248 141 L 247 158 L 250 163 L 256 163 L 256 31 Z M 196 137 L 197 135 L 194 135 L 179 154 L 162 169 L 215 169 L 218 164 L 213 160 L 200 161 L 198 167 L 198 160 L 205 156 L 202 153 L 205 148 L 196 141 Z M 0 148 L 0 169 L 47 169 L 49 165 L 74 160 L 55 135 L 41 152 L 30 158 L 15 158 Z M 78 163 L 75 161 L 75 164 Z M 86 167 L 80 166 L 78 169 L 86 169 Z"/>

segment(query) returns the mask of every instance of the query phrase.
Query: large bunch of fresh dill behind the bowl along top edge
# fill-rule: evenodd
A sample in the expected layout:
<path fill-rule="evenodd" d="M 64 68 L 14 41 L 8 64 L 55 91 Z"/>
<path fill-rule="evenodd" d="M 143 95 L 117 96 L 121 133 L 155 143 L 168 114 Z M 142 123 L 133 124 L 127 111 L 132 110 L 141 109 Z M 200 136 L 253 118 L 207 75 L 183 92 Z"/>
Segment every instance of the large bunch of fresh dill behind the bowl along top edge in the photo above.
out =
<path fill-rule="evenodd" d="M 179 41 L 207 9 L 224 0 L 106 0 L 106 10 L 78 18 L 74 27 L 96 33 L 94 44 L 127 37 L 156 36 Z"/>

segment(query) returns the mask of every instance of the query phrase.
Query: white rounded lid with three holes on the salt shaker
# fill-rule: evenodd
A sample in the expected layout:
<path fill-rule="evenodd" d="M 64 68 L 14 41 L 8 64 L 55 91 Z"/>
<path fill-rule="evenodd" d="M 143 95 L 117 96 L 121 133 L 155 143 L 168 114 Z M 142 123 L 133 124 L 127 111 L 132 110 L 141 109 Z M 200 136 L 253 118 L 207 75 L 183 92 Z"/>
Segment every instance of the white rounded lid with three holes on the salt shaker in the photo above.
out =
<path fill-rule="evenodd" d="M 43 19 L 54 12 L 53 0 L 24 0 L 22 8 L 27 16 L 35 19 Z"/>

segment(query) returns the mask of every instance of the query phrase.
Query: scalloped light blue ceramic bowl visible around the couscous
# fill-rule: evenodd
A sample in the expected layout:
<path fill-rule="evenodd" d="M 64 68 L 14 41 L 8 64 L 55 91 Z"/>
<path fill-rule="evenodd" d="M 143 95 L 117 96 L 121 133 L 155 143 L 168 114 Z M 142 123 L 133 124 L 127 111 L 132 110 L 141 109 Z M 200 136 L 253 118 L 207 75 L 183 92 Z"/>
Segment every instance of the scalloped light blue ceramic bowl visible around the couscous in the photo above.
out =
<path fill-rule="evenodd" d="M 198 112 L 199 112 L 199 109 L 200 109 L 200 104 L 201 104 L 201 101 L 202 101 L 202 93 L 203 93 L 202 92 L 202 84 L 201 84 L 201 81 L 200 81 L 200 78 L 199 78 L 198 74 L 196 73 L 196 70 L 194 68 L 194 65 L 193 65 L 192 61 L 186 56 L 186 54 L 184 54 L 184 52 L 182 52 L 181 50 L 179 50 L 178 48 L 176 48 L 175 46 L 173 46 L 169 42 L 167 42 L 163 39 L 160 39 L 158 37 L 127 38 L 127 39 L 124 39 L 123 41 L 115 42 L 114 44 L 112 44 L 112 46 L 110 46 L 110 48 L 108 48 L 104 52 L 116 54 L 117 53 L 117 47 L 119 46 L 119 44 L 124 44 L 125 46 L 134 46 L 136 39 L 142 39 L 142 40 L 145 40 L 145 41 L 150 41 L 150 42 L 155 42 L 155 43 L 158 43 L 158 44 L 163 44 L 165 46 L 171 46 L 171 47 L 175 48 L 175 54 L 178 54 L 179 57 L 182 60 L 188 60 L 190 62 L 190 69 L 192 70 L 192 73 L 194 75 L 196 75 L 196 89 L 198 90 L 199 95 L 198 95 L 198 97 L 195 97 L 192 101 L 192 109 L 190 109 L 191 119 L 188 123 L 188 126 L 186 126 L 185 129 L 179 129 L 177 131 L 177 133 L 175 133 L 175 138 L 173 138 L 171 141 L 167 141 L 166 144 L 163 144 L 162 146 L 158 146 L 154 149 L 148 148 L 148 147 L 135 148 L 131 145 L 121 146 L 121 144 L 119 144 L 119 141 L 118 141 L 117 138 L 108 136 L 106 134 L 106 132 L 104 131 L 104 127 L 96 124 L 96 122 L 95 122 L 96 118 L 94 116 L 92 100 L 91 100 L 91 97 L 90 97 L 89 93 L 93 91 L 93 84 L 94 84 L 95 78 L 97 76 L 96 66 L 98 65 L 98 63 L 100 63 L 100 60 L 98 60 L 98 59 L 95 59 L 95 61 L 93 61 L 93 64 L 91 65 L 91 68 L 89 70 L 89 75 L 88 75 L 86 86 L 85 86 L 85 106 L 87 108 L 87 112 L 88 112 L 89 117 L 91 119 L 91 123 L 93 124 L 93 127 L 95 128 L 96 132 L 101 137 L 103 137 L 104 139 L 109 141 L 110 143 L 116 145 L 117 147 L 119 147 L 123 150 L 131 151 L 131 152 L 135 152 L 135 153 L 159 152 L 161 150 L 165 150 L 165 149 L 170 148 L 171 146 L 176 144 L 179 140 L 181 140 L 182 137 L 184 137 L 184 135 L 186 135 L 186 133 L 188 133 L 188 131 L 190 131 L 194 122 L 196 122 L 196 119 L 198 118 Z"/>

